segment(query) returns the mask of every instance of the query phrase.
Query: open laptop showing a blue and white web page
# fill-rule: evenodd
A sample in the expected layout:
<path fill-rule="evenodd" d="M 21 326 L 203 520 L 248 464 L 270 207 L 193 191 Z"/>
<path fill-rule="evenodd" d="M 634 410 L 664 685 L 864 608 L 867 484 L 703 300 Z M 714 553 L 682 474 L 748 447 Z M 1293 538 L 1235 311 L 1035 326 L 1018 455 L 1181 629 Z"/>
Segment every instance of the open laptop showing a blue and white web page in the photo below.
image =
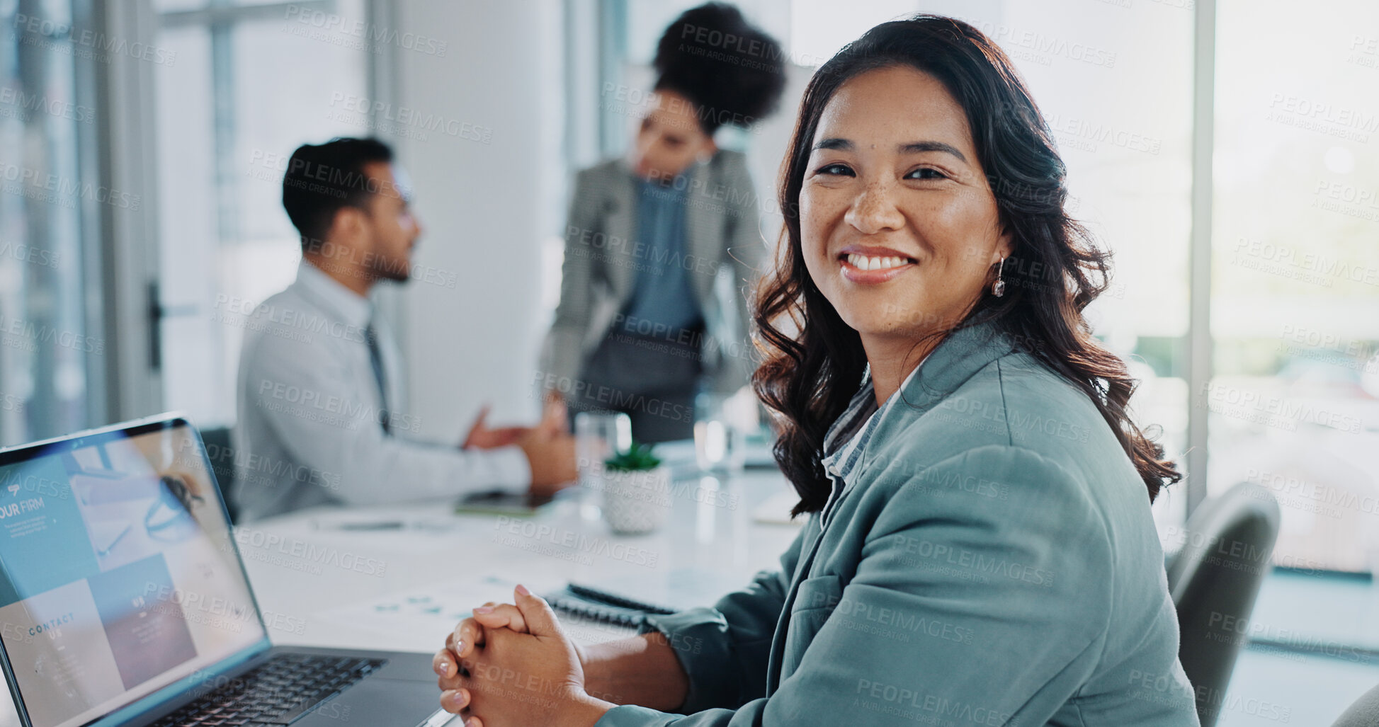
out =
<path fill-rule="evenodd" d="M 429 654 L 269 641 L 205 446 L 177 415 L 0 450 L 0 665 L 23 727 L 452 717 Z"/>

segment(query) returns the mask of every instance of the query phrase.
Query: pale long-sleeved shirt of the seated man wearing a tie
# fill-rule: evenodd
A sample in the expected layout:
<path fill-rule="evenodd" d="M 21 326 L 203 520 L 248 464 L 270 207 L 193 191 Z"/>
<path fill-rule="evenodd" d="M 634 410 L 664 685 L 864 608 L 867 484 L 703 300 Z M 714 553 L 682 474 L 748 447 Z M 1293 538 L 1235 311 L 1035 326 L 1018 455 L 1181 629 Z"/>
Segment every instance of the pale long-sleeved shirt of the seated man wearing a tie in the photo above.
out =
<path fill-rule="evenodd" d="M 365 331 L 374 321 L 383 392 Z M 263 301 L 244 328 L 230 498 L 244 521 L 316 505 L 386 505 L 502 488 L 525 492 L 516 446 L 461 450 L 411 439 L 401 355 L 368 298 L 302 262 L 296 281 Z"/>

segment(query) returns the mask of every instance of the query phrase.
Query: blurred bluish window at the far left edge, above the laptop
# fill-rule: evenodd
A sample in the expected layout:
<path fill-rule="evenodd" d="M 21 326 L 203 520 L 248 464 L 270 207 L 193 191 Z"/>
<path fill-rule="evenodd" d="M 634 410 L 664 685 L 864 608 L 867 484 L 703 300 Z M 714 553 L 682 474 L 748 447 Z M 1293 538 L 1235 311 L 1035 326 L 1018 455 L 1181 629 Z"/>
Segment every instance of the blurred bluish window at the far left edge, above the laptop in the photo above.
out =
<path fill-rule="evenodd" d="M 101 54 L 77 3 L 0 3 L 0 446 L 103 419 L 101 208 L 139 195 L 98 181 Z M 74 40 L 76 39 L 76 40 Z"/>

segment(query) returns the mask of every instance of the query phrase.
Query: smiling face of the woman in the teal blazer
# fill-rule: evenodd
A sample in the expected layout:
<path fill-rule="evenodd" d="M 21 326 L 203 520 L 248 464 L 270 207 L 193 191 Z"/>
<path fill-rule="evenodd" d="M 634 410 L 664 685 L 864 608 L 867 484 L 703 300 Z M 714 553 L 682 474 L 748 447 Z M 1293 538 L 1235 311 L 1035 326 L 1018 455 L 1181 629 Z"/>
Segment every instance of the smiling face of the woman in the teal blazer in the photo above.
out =
<path fill-rule="evenodd" d="M 967 114 L 938 79 L 894 66 L 848 80 L 811 143 L 805 266 L 863 341 L 921 338 L 989 294 L 1011 240 Z"/>

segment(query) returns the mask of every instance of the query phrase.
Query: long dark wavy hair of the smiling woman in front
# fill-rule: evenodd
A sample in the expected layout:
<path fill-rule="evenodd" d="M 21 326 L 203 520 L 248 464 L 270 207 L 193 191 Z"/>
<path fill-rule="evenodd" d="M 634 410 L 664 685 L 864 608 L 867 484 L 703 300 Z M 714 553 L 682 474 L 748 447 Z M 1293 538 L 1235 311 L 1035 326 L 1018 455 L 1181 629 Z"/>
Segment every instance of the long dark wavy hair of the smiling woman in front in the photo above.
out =
<path fill-rule="evenodd" d="M 816 512 L 830 484 L 823 439 L 858 392 L 866 367 L 860 337 L 809 279 L 800 241 L 800 189 L 819 117 L 833 94 L 867 70 L 905 66 L 934 76 L 965 109 L 1000 221 L 1011 233 L 1005 295 L 982 295 L 956 327 L 990 321 L 1008 339 L 1087 393 L 1145 480 L 1150 501 L 1180 475 L 1127 412 L 1136 381 L 1092 337 L 1083 317 L 1106 290 L 1109 254 L 1067 215 L 1066 170 L 1048 124 L 1009 58 L 980 30 L 935 15 L 881 23 L 848 44 L 809 80 L 781 177 L 785 241 L 757 288 L 757 396 L 781 426 L 775 458 L 800 492 L 794 515 Z M 1011 263 L 1015 265 L 1011 265 Z M 996 266 L 990 270 L 996 277 Z"/>

